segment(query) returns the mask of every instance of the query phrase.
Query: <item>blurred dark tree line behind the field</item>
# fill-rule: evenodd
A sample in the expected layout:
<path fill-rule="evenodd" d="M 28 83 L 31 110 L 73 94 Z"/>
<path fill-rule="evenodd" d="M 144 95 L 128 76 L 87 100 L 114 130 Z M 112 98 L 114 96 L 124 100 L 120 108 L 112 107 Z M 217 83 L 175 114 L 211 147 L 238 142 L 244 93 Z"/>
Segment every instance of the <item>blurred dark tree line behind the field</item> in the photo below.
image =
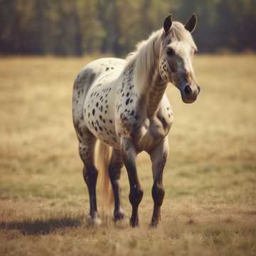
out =
<path fill-rule="evenodd" d="M 0 53 L 125 55 L 169 13 L 197 14 L 200 52 L 256 49 L 255 0 L 0 0 Z"/>

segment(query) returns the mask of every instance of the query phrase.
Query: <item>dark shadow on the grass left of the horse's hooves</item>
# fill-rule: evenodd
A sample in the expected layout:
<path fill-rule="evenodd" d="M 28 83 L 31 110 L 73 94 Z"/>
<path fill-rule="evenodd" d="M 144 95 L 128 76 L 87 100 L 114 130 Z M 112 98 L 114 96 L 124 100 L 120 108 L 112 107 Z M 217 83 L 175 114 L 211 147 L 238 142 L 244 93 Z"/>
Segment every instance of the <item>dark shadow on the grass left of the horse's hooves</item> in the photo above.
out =
<path fill-rule="evenodd" d="M 1 230 L 19 230 L 23 235 L 47 235 L 61 228 L 77 228 L 84 223 L 84 216 L 51 217 L 23 221 L 1 221 Z M 87 223 L 85 223 L 87 225 Z"/>

